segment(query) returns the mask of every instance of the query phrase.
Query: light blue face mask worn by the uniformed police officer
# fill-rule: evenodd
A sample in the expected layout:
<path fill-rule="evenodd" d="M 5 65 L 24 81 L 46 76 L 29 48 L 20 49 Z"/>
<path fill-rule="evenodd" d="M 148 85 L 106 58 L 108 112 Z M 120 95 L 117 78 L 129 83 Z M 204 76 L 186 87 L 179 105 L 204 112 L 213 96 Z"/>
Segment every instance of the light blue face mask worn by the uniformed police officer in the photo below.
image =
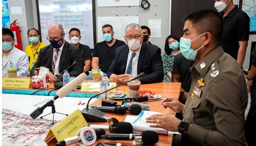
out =
<path fill-rule="evenodd" d="M 187 58 L 188 60 L 195 60 L 196 56 L 197 56 L 197 51 L 200 50 L 201 48 L 204 47 L 201 46 L 199 49 L 197 50 L 193 50 L 191 47 L 191 41 L 201 37 L 202 35 L 204 35 L 205 32 L 201 35 L 199 35 L 198 37 L 194 38 L 194 39 L 186 39 L 184 37 L 180 37 L 180 51 L 182 53 L 182 55 Z"/>

